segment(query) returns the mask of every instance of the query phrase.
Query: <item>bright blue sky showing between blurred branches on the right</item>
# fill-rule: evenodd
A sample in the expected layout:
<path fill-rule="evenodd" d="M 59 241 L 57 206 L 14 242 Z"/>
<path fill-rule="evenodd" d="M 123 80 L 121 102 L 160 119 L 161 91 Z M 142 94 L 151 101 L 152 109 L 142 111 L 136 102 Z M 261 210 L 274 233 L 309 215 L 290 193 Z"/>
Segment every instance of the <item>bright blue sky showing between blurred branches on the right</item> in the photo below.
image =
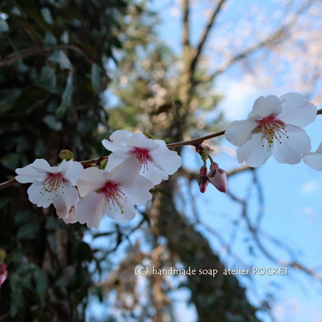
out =
<path fill-rule="evenodd" d="M 212 8 L 210 1 L 199 2 L 192 10 L 191 35 L 193 42 L 199 38 L 205 18 L 200 19 L 207 9 Z M 281 21 L 279 17 L 282 14 L 281 1 L 249 1 L 247 6 L 245 2 L 228 1 L 229 6 L 224 10 L 219 19 L 219 27 L 226 24 L 229 20 L 233 24 L 240 24 L 239 19 L 252 22 L 252 10 L 265 11 L 265 14 L 271 19 L 268 20 L 270 30 L 278 26 Z M 297 2 L 299 4 L 300 2 Z M 168 3 L 167 3 L 168 4 Z M 178 2 L 170 2 L 166 6 L 164 1 L 156 0 L 153 2 L 153 8 L 156 11 L 163 8 L 161 17 L 163 24 L 159 27 L 159 34 L 175 51 L 180 52 L 181 39 L 181 14 Z M 260 4 L 260 5 L 259 5 Z M 259 8 L 255 8 L 257 6 Z M 240 18 L 243 17 L 243 18 Z M 248 20 L 249 19 L 249 20 Z M 264 19 L 264 18 L 263 18 Z M 264 19 L 265 20 L 265 19 Z M 231 28 L 233 30 L 233 28 Z M 210 37 L 212 39 L 213 36 Z M 237 37 L 237 35 L 236 35 Z M 207 46 L 206 53 L 211 55 L 211 41 Z M 211 56 L 209 57 L 211 61 Z M 291 66 L 290 66 L 291 67 Z M 289 68 L 290 68 L 289 67 Z M 289 70 L 285 70 L 289 72 Z M 254 101 L 259 96 L 270 94 L 282 95 L 289 91 L 295 91 L 290 85 L 282 81 L 283 77 L 279 75 L 273 79 L 269 88 L 256 86 L 250 82 L 249 77 L 243 73 L 239 66 L 231 67 L 227 73 L 216 79 L 219 93 L 224 95 L 219 108 L 225 112 L 228 120 L 243 119 L 251 111 Z M 274 91 L 274 92 L 272 92 Z M 304 93 L 301 93 L 304 94 Z M 317 102 L 318 108 L 321 108 Z M 322 140 L 321 116 L 317 116 L 314 123 L 305 129 L 311 137 L 312 151 L 315 151 Z M 229 149 L 235 149 L 229 142 L 223 140 L 223 146 Z M 223 148 L 225 150 L 225 148 Z M 198 159 L 192 148 L 187 147 L 184 154 L 184 165 L 187 168 L 198 170 L 201 160 Z M 215 156 L 216 162 L 225 170 L 231 170 L 238 166 L 236 158 L 225 152 Z M 283 243 L 290 246 L 300 263 L 308 268 L 314 268 L 320 265 L 320 249 L 322 246 L 322 221 L 320 194 L 322 185 L 322 173 L 316 172 L 306 167 L 303 163 L 295 166 L 282 165 L 270 158 L 266 165 L 258 169 L 259 180 L 264 193 L 264 216 L 261 228 L 270 235 L 280 239 Z M 250 174 L 239 174 L 229 180 L 229 186 L 233 193 L 238 196 L 244 196 L 246 188 L 250 185 L 252 178 Z M 232 188 L 231 188 L 232 187 Z M 195 187 L 195 196 L 198 196 L 197 205 L 200 217 L 213 229 L 220 232 L 225 240 L 230 240 L 233 231 L 236 231 L 233 251 L 243 258 L 243 262 L 250 267 L 278 267 L 268 260 L 249 240 L 245 241 L 245 223 L 240 219 L 240 208 L 234 204 L 229 197 L 219 193 L 214 187 L 209 186 L 204 195 L 198 192 Z M 255 191 L 254 191 L 255 194 Z M 250 217 L 255 220 L 258 204 L 256 195 L 250 199 Z M 189 213 L 189 209 L 187 209 Z M 232 223 L 239 222 L 236 225 Z M 238 264 L 225 254 L 220 244 L 211 233 L 203 227 L 199 227 L 208 237 L 210 244 L 215 251 L 222 255 L 227 267 L 234 267 Z M 249 239 L 250 235 L 248 234 Z M 263 244 L 267 249 L 282 261 L 289 261 L 288 255 L 276 246 L 263 239 Z M 255 255 L 249 253 L 249 247 L 253 246 Z M 243 266 L 243 265 L 241 265 Z M 317 272 L 320 272 L 317 270 Z M 272 292 L 275 296 L 275 305 L 273 315 L 277 321 L 320 321 L 322 320 L 322 307 L 320 307 L 322 288 L 320 282 L 306 276 L 296 269 L 290 269 L 287 276 L 252 276 L 241 278 L 240 281 L 248 288 L 249 298 L 256 304 L 259 299 L 264 298 L 265 293 Z M 180 308 L 178 308 L 180 311 Z M 266 314 L 259 314 L 265 321 L 270 318 Z M 182 320 L 188 321 L 185 315 Z M 195 321 L 195 315 L 190 315 L 190 320 Z"/>

